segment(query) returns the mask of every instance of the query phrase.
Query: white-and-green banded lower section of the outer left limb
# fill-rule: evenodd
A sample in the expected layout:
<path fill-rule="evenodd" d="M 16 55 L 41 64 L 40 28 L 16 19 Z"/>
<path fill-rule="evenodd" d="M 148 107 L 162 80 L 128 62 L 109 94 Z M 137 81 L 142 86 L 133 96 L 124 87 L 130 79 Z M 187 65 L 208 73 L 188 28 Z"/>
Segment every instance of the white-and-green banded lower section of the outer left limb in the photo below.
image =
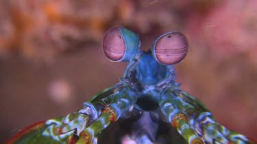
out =
<path fill-rule="evenodd" d="M 50 136 L 56 141 L 70 141 L 73 136 L 79 135 L 92 121 L 95 121 L 99 113 L 97 107 L 86 102 L 84 108 L 75 113 L 46 121 L 47 128 L 42 135 Z"/>

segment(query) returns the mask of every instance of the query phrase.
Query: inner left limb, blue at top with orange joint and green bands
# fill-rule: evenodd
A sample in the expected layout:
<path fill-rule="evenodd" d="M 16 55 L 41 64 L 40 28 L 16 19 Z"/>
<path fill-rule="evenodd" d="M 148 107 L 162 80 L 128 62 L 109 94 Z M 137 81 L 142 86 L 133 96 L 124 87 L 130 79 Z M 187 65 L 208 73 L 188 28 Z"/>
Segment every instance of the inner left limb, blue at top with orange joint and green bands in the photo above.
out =
<path fill-rule="evenodd" d="M 80 132 L 77 143 L 90 143 L 93 137 L 106 128 L 110 122 L 117 121 L 119 117 L 136 102 L 136 93 L 130 87 L 124 87 L 114 93 L 114 100 L 110 106 L 101 113 L 100 117 L 88 128 Z"/>

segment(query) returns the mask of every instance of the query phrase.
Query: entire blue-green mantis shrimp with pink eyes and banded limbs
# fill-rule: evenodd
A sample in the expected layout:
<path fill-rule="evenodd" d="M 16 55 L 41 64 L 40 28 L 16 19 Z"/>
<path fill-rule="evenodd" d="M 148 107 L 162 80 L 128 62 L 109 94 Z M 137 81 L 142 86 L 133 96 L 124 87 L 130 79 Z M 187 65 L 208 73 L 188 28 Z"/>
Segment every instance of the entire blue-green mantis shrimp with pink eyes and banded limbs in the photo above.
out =
<path fill-rule="evenodd" d="M 253 143 L 217 123 L 204 104 L 175 82 L 172 65 L 184 59 L 187 49 L 186 38 L 179 32 L 164 33 L 151 51 L 144 52 L 138 35 L 122 27 L 110 29 L 103 39 L 103 52 L 112 61 L 130 62 L 119 83 L 75 113 L 31 126 L 9 143 L 97 143 L 103 129 L 118 119 L 131 121 L 129 133 L 119 143 L 124 139 L 170 143 L 160 135 L 171 127 L 187 143 Z"/>

